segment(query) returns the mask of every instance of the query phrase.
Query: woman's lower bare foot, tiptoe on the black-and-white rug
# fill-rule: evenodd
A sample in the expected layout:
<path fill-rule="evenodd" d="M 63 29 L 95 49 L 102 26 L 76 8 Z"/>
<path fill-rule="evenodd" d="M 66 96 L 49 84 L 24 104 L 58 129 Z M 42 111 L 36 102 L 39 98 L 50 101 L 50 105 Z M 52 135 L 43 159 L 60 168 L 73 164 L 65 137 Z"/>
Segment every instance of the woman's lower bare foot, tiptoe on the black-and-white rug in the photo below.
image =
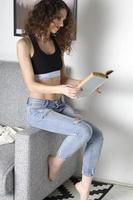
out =
<path fill-rule="evenodd" d="M 88 198 L 89 198 L 89 188 L 85 188 L 82 181 L 76 183 L 75 188 L 80 194 L 80 200 L 88 200 Z"/>

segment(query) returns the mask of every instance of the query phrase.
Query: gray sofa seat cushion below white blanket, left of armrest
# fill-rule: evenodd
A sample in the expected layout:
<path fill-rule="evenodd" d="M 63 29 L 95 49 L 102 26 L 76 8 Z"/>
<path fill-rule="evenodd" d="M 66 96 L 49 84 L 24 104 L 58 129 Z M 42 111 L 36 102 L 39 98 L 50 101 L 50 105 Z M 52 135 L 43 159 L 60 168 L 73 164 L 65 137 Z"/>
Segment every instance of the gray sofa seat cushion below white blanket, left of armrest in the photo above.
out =
<path fill-rule="evenodd" d="M 0 146 L 0 196 L 13 190 L 14 143 Z"/>

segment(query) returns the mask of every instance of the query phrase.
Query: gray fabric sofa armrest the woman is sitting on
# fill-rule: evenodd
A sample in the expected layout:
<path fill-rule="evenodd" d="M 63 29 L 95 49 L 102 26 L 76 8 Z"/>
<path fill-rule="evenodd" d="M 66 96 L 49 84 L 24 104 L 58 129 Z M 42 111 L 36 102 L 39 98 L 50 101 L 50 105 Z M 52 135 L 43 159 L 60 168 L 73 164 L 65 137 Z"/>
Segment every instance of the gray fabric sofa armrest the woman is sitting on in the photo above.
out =
<path fill-rule="evenodd" d="M 57 180 L 48 179 L 48 155 L 56 154 L 65 137 L 36 128 L 28 128 L 17 134 L 15 200 L 42 200 L 75 173 L 78 151 L 65 162 Z"/>

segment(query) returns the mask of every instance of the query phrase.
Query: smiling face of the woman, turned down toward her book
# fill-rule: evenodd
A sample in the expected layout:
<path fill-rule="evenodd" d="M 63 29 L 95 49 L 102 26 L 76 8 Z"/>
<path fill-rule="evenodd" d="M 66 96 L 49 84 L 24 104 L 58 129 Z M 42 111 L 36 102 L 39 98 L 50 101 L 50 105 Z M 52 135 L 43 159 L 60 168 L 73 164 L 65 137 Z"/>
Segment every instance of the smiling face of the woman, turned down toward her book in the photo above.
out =
<path fill-rule="evenodd" d="M 53 19 L 53 21 L 50 23 L 49 25 L 49 31 L 51 33 L 56 33 L 60 27 L 63 27 L 64 25 L 64 20 L 67 17 L 67 11 L 66 9 L 61 9 L 58 13 L 57 13 L 57 17 Z"/>

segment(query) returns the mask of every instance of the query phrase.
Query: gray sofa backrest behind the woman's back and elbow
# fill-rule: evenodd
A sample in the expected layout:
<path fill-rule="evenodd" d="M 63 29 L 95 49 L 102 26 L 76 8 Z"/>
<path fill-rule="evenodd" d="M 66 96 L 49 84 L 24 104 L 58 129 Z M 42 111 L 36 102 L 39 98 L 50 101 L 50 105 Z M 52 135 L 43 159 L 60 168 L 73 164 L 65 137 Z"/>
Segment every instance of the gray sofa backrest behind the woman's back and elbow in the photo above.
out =
<path fill-rule="evenodd" d="M 0 124 L 27 127 L 28 91 L 18 63 L 6 61 L 0 64 L 0 91 Z"/>

